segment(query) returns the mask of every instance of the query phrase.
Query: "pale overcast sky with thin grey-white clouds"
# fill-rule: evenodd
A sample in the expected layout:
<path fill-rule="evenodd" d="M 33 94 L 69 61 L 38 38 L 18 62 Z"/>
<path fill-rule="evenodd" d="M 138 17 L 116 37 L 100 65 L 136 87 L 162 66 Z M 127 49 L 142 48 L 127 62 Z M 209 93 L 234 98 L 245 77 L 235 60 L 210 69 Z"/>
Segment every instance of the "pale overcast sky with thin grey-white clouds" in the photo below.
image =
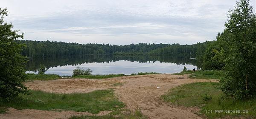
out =
<path fill-rule="evenodd" d="M 215 40 L 236 1 L 0 0 L 0 7 L 24 40 L 190 45 Z M 250 5 L 255 8 L 255 0 Z"/>

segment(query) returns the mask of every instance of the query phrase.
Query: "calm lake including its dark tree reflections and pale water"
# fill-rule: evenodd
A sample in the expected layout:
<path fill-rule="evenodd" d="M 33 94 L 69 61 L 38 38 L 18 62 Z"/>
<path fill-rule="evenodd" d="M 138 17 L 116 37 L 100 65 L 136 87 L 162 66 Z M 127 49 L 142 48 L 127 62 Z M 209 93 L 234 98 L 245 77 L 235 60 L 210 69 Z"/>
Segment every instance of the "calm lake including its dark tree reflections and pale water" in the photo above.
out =
<path fill-rule="evenodd" d="M 132 74 L 137 72 L 157 72 L 173 74 L 187 69 L 201 68 L 195 59 L 172 56 L 114 56 L 84 55 L 79 57 L 51 57 L 30 59 L 26 65 L 26 73 L 36 73 L 40 64 L 47 67 L 46 74 L 71 76 L 76 67 L 91 68 L 92 74 Z"/>

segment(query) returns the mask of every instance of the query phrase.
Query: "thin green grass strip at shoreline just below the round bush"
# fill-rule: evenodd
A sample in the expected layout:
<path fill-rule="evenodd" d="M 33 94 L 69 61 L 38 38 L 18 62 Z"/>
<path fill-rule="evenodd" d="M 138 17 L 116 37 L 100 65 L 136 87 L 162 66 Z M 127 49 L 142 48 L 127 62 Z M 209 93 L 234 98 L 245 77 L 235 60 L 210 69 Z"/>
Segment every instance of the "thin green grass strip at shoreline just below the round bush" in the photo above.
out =
<path fill-rule="evenodd" d="M 125 74 L 108 74 L 108 75 L 78 75 L 72 78 L 83 78 L 83 79 L 107 79 L 113 77 L 122 77 Z"/>

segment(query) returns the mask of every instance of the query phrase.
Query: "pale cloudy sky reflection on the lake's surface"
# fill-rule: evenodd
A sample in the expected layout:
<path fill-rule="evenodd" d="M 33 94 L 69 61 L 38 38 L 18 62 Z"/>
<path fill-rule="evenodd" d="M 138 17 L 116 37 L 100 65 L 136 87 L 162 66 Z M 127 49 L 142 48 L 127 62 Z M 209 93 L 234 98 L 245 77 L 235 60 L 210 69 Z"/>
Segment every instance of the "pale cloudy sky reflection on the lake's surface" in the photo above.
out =
<path fill-rule="evenodd" d="M 109 63 L 83 63 L 80 65 L 66 65 L 49 68 L 46 74 L 58 74 L 61 76 L 72 75 L 72 70 L 76 67 L 91 68 L 92 74 L 132 74 L 137 72 L 157 72 L 172 74 L 183 70 L 184 66 L 187 69 L 192 70 L 197 68 L 194 65 L 177 65 L 175 63 L 166 62 L 131 62 L 131 61 L 116 61 Z"/>

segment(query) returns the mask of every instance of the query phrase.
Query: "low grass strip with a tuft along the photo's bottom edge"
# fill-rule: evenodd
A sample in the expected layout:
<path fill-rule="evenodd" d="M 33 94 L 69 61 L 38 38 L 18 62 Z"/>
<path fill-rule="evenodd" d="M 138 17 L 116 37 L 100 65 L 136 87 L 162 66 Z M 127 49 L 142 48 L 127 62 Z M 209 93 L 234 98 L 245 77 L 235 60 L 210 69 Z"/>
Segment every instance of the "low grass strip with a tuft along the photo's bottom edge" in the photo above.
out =
<path fill-rule="evenodd" d="M 134 113 L 131 114 L 122 114 L 119 116 L 109 114 L 105 116 L 72 116 L 69 119 L 146 119 L 145 116 L 141 113 L 139 109 L 135 110 Z"/>

